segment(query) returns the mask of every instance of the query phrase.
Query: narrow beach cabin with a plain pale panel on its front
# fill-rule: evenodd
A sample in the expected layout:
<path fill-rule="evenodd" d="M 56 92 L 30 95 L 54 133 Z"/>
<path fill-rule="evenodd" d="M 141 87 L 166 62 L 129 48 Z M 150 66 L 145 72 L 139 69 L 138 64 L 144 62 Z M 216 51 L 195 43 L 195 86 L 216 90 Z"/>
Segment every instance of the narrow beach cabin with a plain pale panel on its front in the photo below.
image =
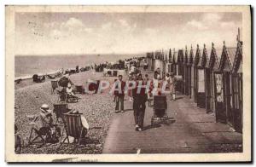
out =
<path fill-rule="evenodd" d="M 200 53 L 197 52 L 200 56 Z M 200 56 L 199 62 L 197 64 L 197 107 L 206 107 L 206 65 L 207 65 L 207 49 L 204 44 L 202 55 Z"/>

